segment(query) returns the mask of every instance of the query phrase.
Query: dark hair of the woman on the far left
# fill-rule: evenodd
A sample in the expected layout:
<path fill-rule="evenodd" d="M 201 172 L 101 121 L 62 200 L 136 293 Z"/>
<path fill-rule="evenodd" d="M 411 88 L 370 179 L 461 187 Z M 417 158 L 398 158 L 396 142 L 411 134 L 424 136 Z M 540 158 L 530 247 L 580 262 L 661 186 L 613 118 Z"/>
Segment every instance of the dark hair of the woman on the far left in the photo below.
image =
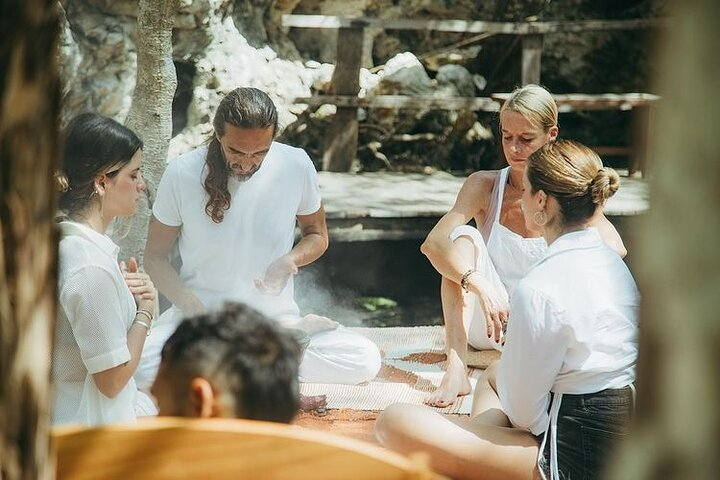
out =
<path fill-rule="evenodd" d="M 95 179 L 103 173 L 112 176 L 143 148 L 132 130 L 96 113 L 73 118 L 65 128 L 63 142 L 62 167 L 56 179 L 60 209 L 67 213 L 86 208 Z"/>

